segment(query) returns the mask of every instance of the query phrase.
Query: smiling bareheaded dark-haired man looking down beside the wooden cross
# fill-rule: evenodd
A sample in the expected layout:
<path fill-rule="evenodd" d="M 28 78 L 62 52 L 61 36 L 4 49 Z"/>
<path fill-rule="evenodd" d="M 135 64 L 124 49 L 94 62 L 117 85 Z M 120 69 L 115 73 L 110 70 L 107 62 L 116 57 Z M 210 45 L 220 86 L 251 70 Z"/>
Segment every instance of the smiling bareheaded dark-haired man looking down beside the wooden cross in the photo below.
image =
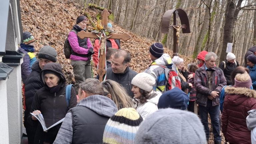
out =
<path fill-rule="evenodd" d="M 127 91 L 130 97 L 133 98 L 131 81 L 138 73 L 129 68 L 129 62 L 131 61 L 131 55 L 127 51 L 120 49 L 116 51 L 111 60 L 111 68 L 107 69 L 106 79 L 116 81 L 121 84 Z"/>

